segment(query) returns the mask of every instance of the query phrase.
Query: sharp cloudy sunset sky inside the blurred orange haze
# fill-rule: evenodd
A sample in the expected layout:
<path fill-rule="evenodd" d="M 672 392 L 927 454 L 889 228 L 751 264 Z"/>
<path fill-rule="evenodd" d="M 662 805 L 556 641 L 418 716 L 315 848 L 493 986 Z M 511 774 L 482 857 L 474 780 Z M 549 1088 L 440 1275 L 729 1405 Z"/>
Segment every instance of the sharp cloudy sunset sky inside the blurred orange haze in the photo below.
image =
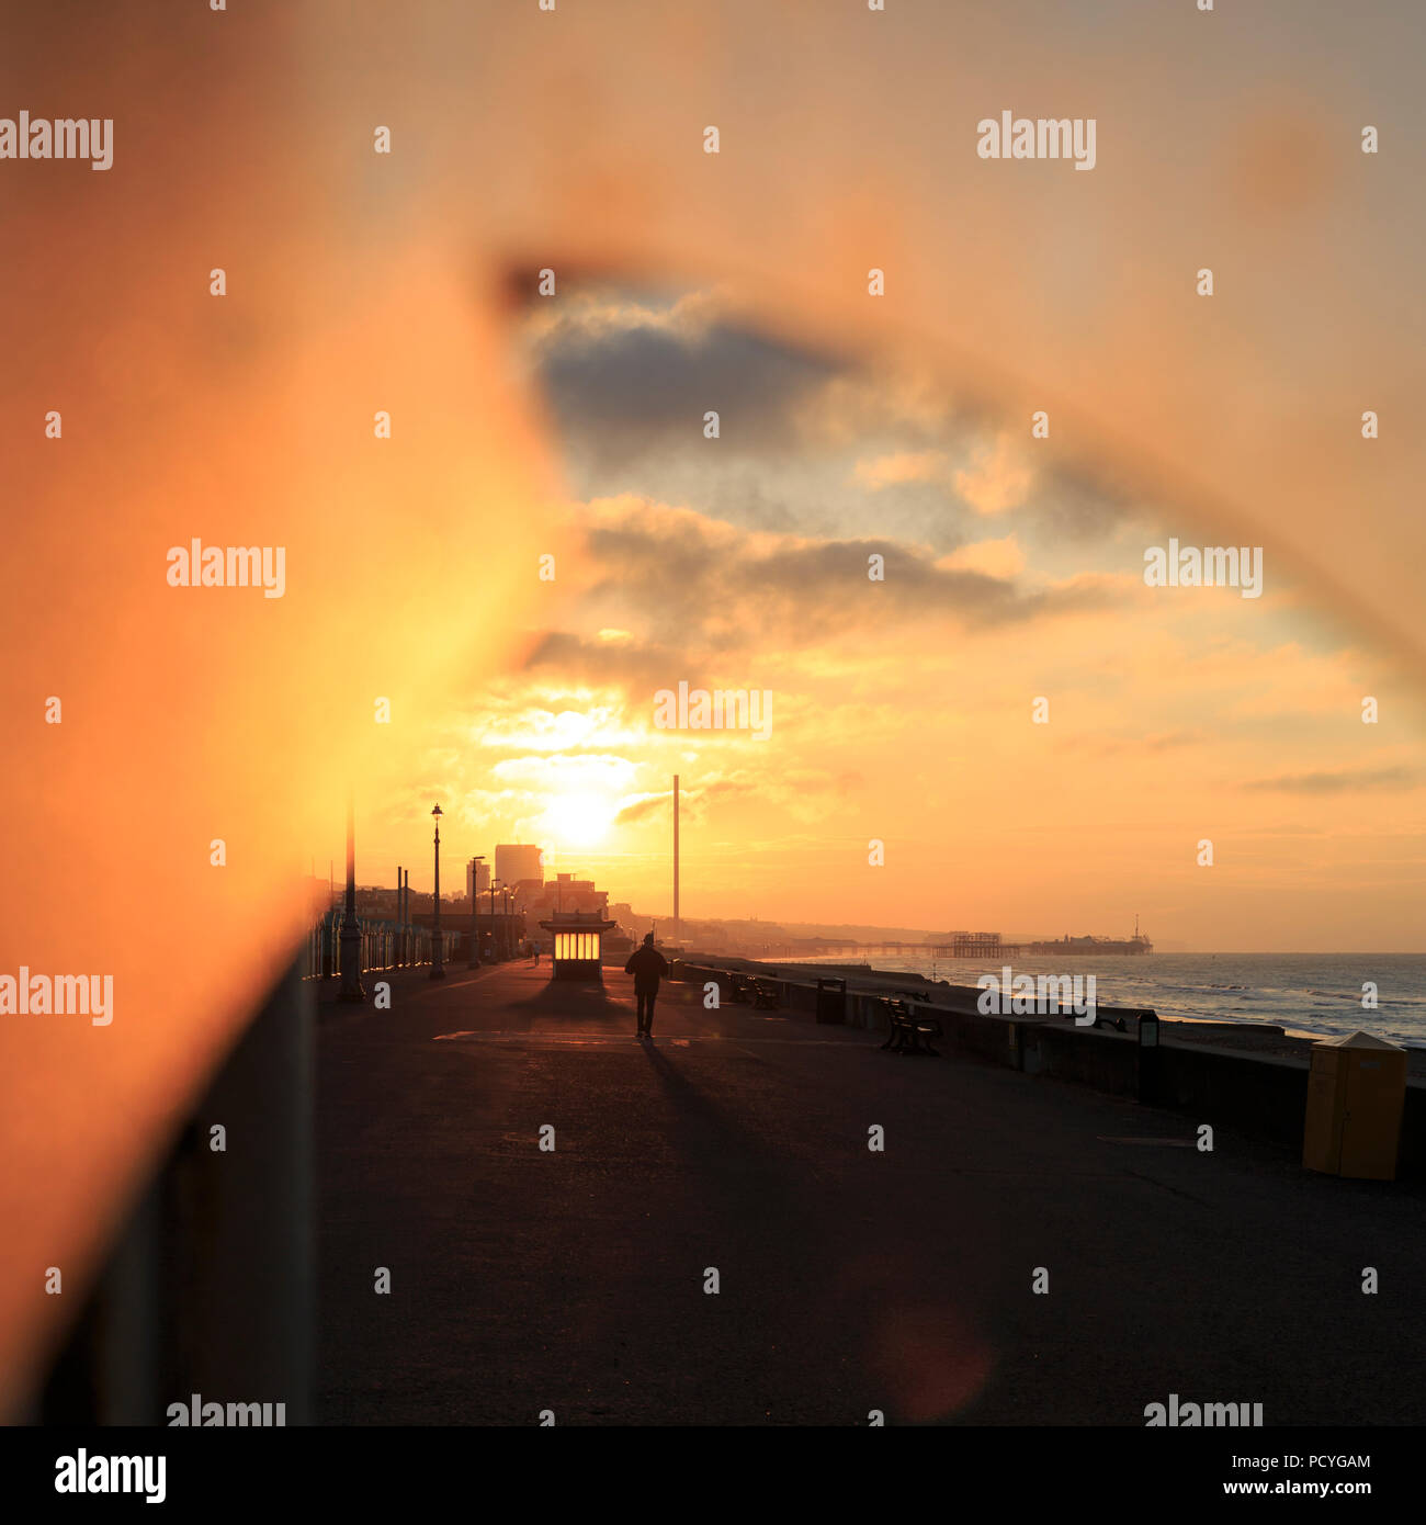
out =
<path fill-rule="evenodd" d="M 575 554 L 386 830 L 424 790 L 458 859 L 537 842 L 666 917 L 679 773 L 688 917 L 1421 946 L 1417 697 L 1278 546 L 1254 598 L 1148 587 L 1147 547 L 1217 541 L 715 291 L 534 302 L 515 351 Z M 766 691 L 767 735 L 662 729 L 680 682 Z"/>

